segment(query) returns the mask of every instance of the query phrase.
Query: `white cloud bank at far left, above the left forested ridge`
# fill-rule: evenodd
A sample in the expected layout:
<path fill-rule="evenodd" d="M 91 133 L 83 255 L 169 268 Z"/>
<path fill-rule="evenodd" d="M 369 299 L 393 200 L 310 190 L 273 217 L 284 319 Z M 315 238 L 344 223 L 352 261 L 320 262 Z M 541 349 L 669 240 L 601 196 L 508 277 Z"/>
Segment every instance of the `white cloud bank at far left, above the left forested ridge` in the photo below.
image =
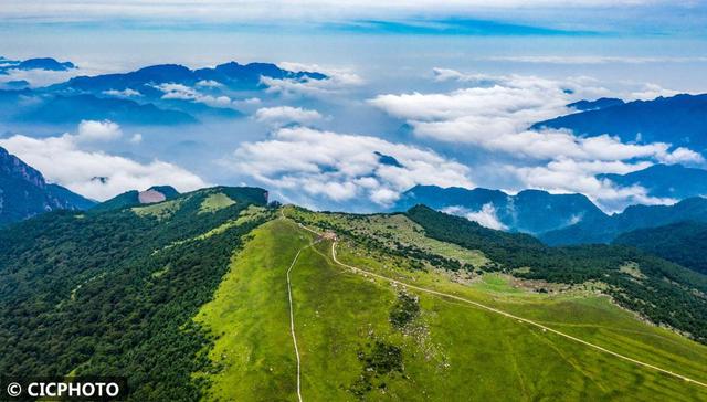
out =
<path fill-rule="evenodd" d="M 198 176 L 169 162 L 156 159 L 149 163 L 139 163 L 128 158 L 81 148 L 82 141 L 78 139 L 82 136 L 114 136 L 119 128 L 108 123 L 84 121 L 77 135 L 64 134 L 46 138 L 14 135 L 0 139 L 0 146 L 40 170 L 50 182 L 99 201 L 128 190 L 158 184 L 171 184 L 180 191 L 208 186 Z"/>

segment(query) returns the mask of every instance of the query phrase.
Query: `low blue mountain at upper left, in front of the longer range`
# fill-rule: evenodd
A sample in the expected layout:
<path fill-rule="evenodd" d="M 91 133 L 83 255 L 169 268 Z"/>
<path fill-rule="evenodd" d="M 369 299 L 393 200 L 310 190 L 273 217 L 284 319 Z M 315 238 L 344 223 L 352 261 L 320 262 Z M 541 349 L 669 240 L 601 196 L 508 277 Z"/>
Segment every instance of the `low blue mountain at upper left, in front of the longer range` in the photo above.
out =
<path fill-rule="evenodd" d="M 179 125 L 198 120 L 180 110 L 161 109 L 154 104 L 129 99 L 101 98 L 83 94 L 56 96 L 22 113 L 15 120 L 29 123 L 71 123 L 81 120 L 112 120 L 120 124 Z"/>

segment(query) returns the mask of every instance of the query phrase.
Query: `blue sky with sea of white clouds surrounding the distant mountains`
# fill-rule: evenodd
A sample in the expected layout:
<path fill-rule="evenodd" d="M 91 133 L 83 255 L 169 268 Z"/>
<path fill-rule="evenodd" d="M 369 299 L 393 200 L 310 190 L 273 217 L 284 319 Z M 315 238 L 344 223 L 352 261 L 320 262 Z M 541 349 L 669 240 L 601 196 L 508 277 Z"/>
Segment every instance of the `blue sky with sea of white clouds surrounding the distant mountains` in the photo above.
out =
<path fill-rule="evenodd" d="M 594 176 L 658 162 L 703 167 L 694 150 L 528 126 L 581 98 L 707 92 L 706 27 L 704 1 L 3 0 L 0 55 L 80 66 L 12 75 L 33 86 L 228 61 L 329 80 L 264 81 L 270 100 L 229 99 L 246 117 L 228 125 L 0 125 L 0 146 L 98 200 L 151 184 L 253 184 L 286 202 L 371 211 L 412 186 L 437 184 L 581 192 L 608 212 L 669 203 Z M 165 89 L 215 102 L 201 93 Z"/>

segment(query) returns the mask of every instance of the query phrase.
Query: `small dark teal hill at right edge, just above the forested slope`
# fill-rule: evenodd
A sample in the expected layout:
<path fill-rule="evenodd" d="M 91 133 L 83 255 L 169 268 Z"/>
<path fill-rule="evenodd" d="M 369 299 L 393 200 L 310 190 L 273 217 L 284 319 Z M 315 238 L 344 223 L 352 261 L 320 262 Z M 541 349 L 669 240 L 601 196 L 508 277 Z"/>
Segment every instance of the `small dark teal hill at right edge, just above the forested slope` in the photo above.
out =
<path fill-rule="evenodd" d="M 678 222 L 621 234 L 613 242 L 637 247 L 684 267 L 707 274 L 707 223 Z"/>

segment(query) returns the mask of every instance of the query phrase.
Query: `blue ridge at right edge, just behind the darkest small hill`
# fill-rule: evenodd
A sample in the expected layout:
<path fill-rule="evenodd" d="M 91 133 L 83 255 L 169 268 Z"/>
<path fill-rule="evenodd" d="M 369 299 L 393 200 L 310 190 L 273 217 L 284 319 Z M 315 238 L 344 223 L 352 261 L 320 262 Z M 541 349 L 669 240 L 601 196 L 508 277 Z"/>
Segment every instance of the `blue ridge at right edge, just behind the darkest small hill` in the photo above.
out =
<path fill-rule="evenodd" d="M 619 234 L 680 221 L 707 222 L 707 199 L 685 199 L 674 205 L 631 205 L 622 213 L 595 216 L 539 235 L 547 244 L 610 243 Z"/>

